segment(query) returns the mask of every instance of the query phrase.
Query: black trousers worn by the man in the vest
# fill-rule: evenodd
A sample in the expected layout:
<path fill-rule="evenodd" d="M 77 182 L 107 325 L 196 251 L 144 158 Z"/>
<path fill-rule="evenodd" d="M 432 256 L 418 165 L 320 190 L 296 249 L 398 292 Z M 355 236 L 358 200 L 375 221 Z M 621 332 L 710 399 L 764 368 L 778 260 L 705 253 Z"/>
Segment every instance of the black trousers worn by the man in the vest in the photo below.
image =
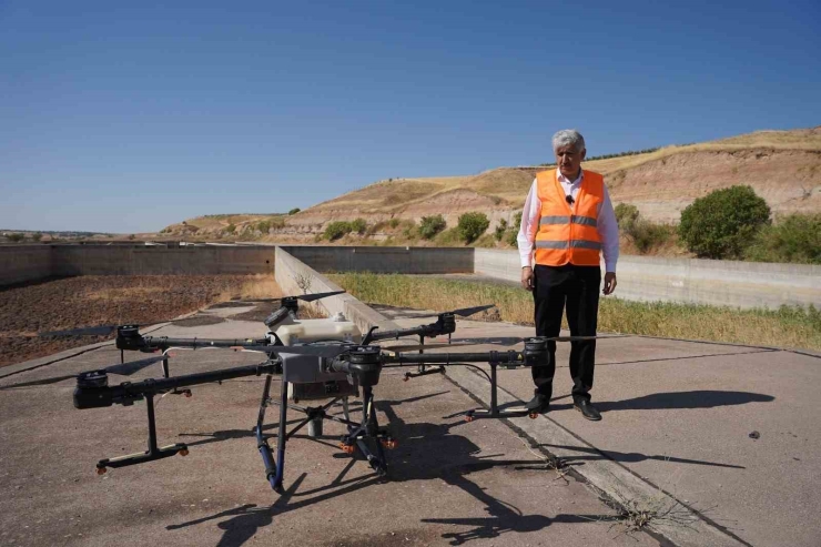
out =
<path fill-rule="evenodd" d="M 534 303 L 536 307 L 536 336 L 558 336 L 561 313 L 567 310 L 567 324 L 571 336 L 595 336 L 599 313 L 599 266 L 545 266 L 534 267 Z M 570 376 L 572 399 L 590 401 L 592 371 L 596 364 L 596 341 L 570 343 Z M 556 373 L 556 342 L 548 342 L 548 362 L 533 366 L 536 391 L 549 398 Z"/>

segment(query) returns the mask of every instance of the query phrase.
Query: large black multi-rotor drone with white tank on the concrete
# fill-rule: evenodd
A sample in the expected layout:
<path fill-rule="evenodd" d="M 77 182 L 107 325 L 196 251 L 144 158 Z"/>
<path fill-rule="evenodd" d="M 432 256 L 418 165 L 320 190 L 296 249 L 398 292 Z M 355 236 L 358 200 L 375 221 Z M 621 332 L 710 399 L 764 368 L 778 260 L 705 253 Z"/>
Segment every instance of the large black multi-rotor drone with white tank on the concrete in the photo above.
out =
<path fill-rule="evenodd" d="M 287 442 L 303 427 L 307 426 L 307 437 L 322 435 L 323 423 L 331 421 L 346 427 L 339 438 L 339 448 L 347 455 L 357 452 L 369 464 L 378 476 L 388 474 L 385 450 L 395 448 L 398 440 L 389 433 L 388 426 L 381 426 L 374 404 L 374 387 L 378 385 L 381 374 L 386 368 L 416 367 L 416 372 L 405 373 L 404 379 L 439 374 L 447 366 L 469 366 L 484 374 L 490 383 L 490 407 L 469 409 L 464 413 L 467 422 L 477 418 L 504 418 L 529 416 L 537 413 L 524 407 L 499 409 L 497 405 L 497 369 L 513 369 L 526 366 L 545 366 L 549 362 L 549 344 L 594 340 L 596 336 L 534 336 L 525 338 L 452 338 L 456 331 L 458 316 L 469 316 L 494 307 L 493 304 L 453 310 L 433 314 L 436 321 L 415 327 L 394 331 L 368 330 L 364 335 L 358 327 L 337 314 L 324 320 L 298 320 L 298 301 L 314 302 L 321 298 L 344 293 L 303 294 L 281 298 L 257 298 L 250 302 L 280 301 L 280 307 L 271 313 L 264 323 L 268 332 L 263 338 L 178 338 L 168 336 L 146 336 L 140 333 L 140 326 L 105 325 L 71 331 L 42 333 L 42 336 L 100 335 L 116 333 L 115 345 L 121 352 L 121 363 L 104 368 L 83 372 L 79 375 L 57 376 L 34 382 L 13 384 L 2 389 L 34 384 L 51 384 L 72 377 L 77 378 L 73 391 L 73 405 L 78 409 L 105 408 L 113 405 L 130 406 L 144 401 L 148 409 L 148 449 L 136 454 L 100 459 L 97 473 L 102 475 L 109 468 L 144 464 L 174 455 L 186 456 L 189 447 L 184 443 L 160 446 L 156 438 L 154 417 L 154 397 L 165 394 L 192 396 L 191 387 L 196 385 L 221 383 L 223 381 L 264 376 L 263 392 L 256 424 L 253 428 L 256 448 L 263 460 L 265 478 L 274 492 L 282 494 L 285 474 L 285 448 Z M 240 301 L 243 302 L 243 301 Z M 417 317 L 424 317 L 418 316 Z M 399 341 L 407 336 L 418 336 L 417 345 L 381 346 L 379 342 Z M 442 345 L 425 345 L 425 338 L 447 336 Z M 463 345 L 491 344 L 513 346 L 524 343 L 524 348 L 490 352 L 447 352 L 424 353 L 426 348 L 456 347 Z M 264 361 L 254 365 L 234 366 L 219 371 L 183 374 L 172 376 L 169 367 L 171 350 L 222 348 L 236 352 L 255 352 L 264 355 Z M 161 353 L 149 358 L 133 362 L 124 361 L 124 352 Z M 413 353 L 417 351 L 418 353 Z M 155 363 L 162 363 L 162 377 L 140 382 L 110 384 L 109 375 L 131 375 Z M 490 374 L 476 363 L 487 363 Z M 272 383 L 278 377 L 280 394 L 272 396 Z M 359 397 L 362 392 L 361 417 L 352 419 L 349 397 Z M 300 403 L 321 401 L 318 406 Z M 276 452 L 271 447 L 268 437 L 263 434 L 265 415 L 268 407 L 278 407 L 278 429 L 276 433 Z M 342 416 L 332 413 L 332 407 L 342 406 Z M 304 417 L 287 429 L 288 411 L 297 412 Z"/>

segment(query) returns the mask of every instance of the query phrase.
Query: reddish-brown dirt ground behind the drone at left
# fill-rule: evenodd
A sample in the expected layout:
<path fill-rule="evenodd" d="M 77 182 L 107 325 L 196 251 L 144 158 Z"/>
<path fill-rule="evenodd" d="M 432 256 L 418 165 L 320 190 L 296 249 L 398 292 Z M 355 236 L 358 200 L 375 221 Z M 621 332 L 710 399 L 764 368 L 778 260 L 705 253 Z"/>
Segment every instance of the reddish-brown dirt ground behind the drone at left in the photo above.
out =
<path fill-rule="evenodd" d="M 257 282 L 254 275 L 85 275 L 7 288 L 0 291 L 0 366 L 107 340 L 40 332 L 170 321 L 244 296 Z M 278 296 L 273 282 L 265 285 Z"/>

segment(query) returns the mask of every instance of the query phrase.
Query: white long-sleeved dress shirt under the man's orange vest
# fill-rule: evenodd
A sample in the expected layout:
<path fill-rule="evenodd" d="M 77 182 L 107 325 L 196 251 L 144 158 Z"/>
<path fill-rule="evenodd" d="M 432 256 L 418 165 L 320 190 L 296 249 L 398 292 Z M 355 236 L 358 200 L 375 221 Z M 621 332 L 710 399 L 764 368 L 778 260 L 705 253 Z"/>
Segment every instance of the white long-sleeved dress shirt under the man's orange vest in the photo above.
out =
<path fill-rule="evenodd" d="M 559 183 L 565 190 L 565 195 L 572 196 L 574 204 L 570 209 L 576 212 L 581 181 L 585 180 L 585 171 L 579 170 L 579 178 L 569 181 L 559 171 Z M 538 183 L 533 181 L 530 192 L 525 200 L 525 209 L 521 212 L 521 225 L 519 235 L 516 237 L 519 244 L 519 256 L 521 257 L 521 267 L 529 266 L 533 263 L 533 247 L 536 240 L 536 232 L 539 230 L 539 219 L 541 217 L 541 200 L 539 200 Z M 605 271 L 616 273 L 616 262 L 619 260 L 619 225 L 616 222 L 616 213 L 612 210 L 610 194 L 605 186 L 605 199 L 599 203 L 598 224 L 596 226 L 601 237 L 601 254 L 605 256 Z"/>

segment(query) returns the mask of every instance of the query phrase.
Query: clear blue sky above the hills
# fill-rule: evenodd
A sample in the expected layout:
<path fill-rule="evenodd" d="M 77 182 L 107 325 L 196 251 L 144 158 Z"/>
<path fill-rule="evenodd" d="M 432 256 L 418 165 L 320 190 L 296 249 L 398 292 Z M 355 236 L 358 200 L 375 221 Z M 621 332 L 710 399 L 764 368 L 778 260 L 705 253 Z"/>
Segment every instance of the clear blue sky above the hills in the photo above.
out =
<path fill-rule="evenodd" d="M 381 179 L 821 124 L 821 3 L 0 0 L 0 227 L 156 231 Z M 672 2 L 670 2 L 672 3 Z"/>

